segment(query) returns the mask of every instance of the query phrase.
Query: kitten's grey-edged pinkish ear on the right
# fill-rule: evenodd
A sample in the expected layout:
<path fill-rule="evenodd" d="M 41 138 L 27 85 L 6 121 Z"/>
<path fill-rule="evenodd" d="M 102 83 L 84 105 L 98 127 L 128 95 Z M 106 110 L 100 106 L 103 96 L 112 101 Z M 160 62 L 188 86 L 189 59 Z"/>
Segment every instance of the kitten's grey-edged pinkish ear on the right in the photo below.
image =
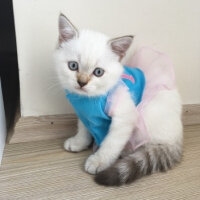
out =
<path fill-rule="evenodd" d="M 112 51 L 116 53 L 120 60 L 125 56 L 126 51 L 133 41 L 132 35 L 127 35 L 119 38 L 114 38 L 108 41 Z"/>

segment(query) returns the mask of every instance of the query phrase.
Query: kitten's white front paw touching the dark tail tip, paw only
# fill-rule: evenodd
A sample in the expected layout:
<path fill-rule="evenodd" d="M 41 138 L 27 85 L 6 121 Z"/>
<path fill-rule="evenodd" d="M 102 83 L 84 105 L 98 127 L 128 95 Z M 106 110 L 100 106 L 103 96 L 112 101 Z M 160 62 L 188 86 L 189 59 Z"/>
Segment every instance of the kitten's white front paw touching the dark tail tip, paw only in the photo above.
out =
<path fill-rule="evenodd" d="M 85 171 L 89 174 L 97 174 L 100 171 L 108 168 L 110 166 L 110 162 L 104 160 L 98 153 L 95 153 L 86 160 L 85 162 Z"/>

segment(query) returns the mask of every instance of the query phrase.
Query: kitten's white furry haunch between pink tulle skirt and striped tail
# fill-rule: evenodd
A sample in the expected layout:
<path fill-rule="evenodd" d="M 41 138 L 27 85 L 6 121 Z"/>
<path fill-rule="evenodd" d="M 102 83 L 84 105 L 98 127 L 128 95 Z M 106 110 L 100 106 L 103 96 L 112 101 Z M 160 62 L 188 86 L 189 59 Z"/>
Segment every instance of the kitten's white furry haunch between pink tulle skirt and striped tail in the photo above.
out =
<path fill-rule="evenodd" d="M 151 143 L 182 143 L 181 100 L 174 90 L 162 90 L 144 108 L 144 121 Z"/>

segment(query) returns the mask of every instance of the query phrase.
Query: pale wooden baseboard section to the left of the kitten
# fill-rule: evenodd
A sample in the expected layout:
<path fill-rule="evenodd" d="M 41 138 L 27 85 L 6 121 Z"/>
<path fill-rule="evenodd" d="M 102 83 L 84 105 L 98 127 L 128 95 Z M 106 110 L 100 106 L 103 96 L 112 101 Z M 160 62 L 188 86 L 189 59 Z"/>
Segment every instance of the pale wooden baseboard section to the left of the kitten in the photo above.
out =
<path fill-rule="evenodd" d="M 75 133 L 76 123 L 74 114 L 21 117 L 9 143 L 64 138 Z"/>

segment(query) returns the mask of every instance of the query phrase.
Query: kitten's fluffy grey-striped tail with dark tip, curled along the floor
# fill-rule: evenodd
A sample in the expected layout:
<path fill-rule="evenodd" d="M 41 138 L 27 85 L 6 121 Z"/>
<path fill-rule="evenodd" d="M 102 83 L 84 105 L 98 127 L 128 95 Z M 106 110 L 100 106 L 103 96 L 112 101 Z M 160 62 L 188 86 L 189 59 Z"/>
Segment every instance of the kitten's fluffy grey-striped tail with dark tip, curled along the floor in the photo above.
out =
<path fill-rule="evenodd" d="M 142 176 L 167 171 L 180 162 L 181 155 L 181 145 L 147 144 L 98 173 L 95 181 L 107 186 L 131 183 Z"/>

